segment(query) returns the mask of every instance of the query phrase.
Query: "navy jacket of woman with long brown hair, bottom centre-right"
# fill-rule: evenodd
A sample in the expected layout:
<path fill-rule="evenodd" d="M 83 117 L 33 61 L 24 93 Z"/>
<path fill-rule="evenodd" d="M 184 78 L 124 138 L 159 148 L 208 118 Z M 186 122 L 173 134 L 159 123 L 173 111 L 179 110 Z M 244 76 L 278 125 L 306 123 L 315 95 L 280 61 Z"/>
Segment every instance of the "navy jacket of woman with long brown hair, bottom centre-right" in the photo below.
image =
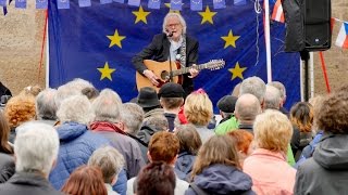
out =
<path fill-rule="evenodd" d="M 252 180 L 247 173 L 221 164 L 204 168 L 194 178 L 194 183 L 207 194 L 254 194 L 251 190 Z M 185 195 L 196 194 L 191 187 L 185 192 Z"/>

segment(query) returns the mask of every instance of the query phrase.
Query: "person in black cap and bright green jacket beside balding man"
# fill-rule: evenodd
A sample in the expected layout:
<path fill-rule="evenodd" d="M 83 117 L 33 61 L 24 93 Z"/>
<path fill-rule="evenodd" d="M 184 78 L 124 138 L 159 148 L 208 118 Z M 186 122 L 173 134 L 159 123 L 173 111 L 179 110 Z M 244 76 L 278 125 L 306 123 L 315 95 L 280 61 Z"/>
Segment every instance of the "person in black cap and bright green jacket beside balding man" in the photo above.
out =
<path fill-rule="evenodd" d="M 219 100 L 217 108 L 223 119 L 215 128 L 216 134 L 226 134 L 228 131 L 238 129 L 238 121 L 234 115 L 237 99 L 233 95 L 225 95 Z"/>

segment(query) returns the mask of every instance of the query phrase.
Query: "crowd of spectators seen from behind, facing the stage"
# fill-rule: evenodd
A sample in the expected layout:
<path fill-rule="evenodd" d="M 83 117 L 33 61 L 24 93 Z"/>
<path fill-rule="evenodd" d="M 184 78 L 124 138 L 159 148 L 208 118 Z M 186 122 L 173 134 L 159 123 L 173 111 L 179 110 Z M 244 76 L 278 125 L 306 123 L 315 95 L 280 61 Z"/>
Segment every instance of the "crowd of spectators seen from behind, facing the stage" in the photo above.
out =
<path fill-rule="evenodd" d="M 345 194 L 347 84 L 287 112 L 281 82 L 249 77 L 217 122 L 203 89 L 185 96 L 25 88 L 0 112 L 0 194 Z"/>

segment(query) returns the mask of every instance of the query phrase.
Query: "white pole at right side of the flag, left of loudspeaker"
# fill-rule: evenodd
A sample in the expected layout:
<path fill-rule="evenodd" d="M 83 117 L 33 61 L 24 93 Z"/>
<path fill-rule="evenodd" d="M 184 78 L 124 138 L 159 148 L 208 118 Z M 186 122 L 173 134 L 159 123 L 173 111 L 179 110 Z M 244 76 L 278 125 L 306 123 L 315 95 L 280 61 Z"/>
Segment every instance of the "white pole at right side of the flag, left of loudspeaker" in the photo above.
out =
<path fill-rule="evenodd" d="M 268 65 L 268 82 L 272 81 L 272 64 L 271 64 L 271 36 L 270 36 L 270 2 L 264 1 L 264 35 L 265 35 L 265 51 L 266 51 L 266 65 Z"/>

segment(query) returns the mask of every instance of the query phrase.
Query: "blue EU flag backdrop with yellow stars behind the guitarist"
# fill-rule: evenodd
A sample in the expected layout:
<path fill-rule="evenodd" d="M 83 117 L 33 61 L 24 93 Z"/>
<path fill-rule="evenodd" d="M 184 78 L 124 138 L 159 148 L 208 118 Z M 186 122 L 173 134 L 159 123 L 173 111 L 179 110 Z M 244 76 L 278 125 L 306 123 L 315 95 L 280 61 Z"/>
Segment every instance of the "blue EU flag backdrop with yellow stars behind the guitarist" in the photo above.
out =
<path fill-rule="evenodd" d="M 69 1 L 67 1 L 69 2 Z M 111 88 L 124 102 L 137 95 L 132 57 L 148 46 L 153 35 L 162 31 L 163 17 L 170 2 L 160 9 L 125 3 L 91 1 L 80 8 L 71 0 L 70 9 L 60 10 L 57 0 L 49 1 L 49 86 L 57 88 L 74 78 L 83 78 L 99 90 Z M 195 88 L 203 88 L 214 105 L 229 94 L 243 79 L 258 76 L 266 81 L 263 16 L 252 1 L 225 9 L 214 9 L 213 1 L 203 1 L 201 11 L 191 11 L 183 1 L 182 11 L 187 34 L 199 41 L 198 62 L 223 58 L 224 68 L 202 70 L 195 78 Z M 271 24 L 273 80 L 287 89 L 286 107 L 300 100 L 299 55 L 284 52 L 284 24 Z"/>

